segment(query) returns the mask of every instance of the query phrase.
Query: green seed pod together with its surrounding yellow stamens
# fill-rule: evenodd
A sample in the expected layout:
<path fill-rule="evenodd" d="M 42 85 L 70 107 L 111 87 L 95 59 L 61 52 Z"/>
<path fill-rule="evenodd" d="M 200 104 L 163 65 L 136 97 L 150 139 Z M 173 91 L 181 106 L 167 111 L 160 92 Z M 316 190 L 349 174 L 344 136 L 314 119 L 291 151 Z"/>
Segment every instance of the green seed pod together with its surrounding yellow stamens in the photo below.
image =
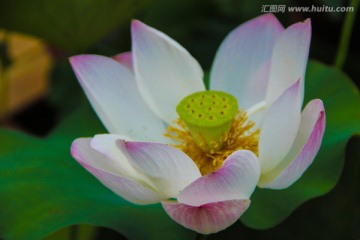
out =
<path fill-rule="evenodd" d="M 258 153 L 259 130 L 246 112 L 238 110 L 234 96 L 221 91 L 203 91 L 185 97 L 176 111 L 178 127 L 169 126 L 166 137 L 178 144 L 205 175 L 221 167 L 234 151 L 246 149 Z"/>

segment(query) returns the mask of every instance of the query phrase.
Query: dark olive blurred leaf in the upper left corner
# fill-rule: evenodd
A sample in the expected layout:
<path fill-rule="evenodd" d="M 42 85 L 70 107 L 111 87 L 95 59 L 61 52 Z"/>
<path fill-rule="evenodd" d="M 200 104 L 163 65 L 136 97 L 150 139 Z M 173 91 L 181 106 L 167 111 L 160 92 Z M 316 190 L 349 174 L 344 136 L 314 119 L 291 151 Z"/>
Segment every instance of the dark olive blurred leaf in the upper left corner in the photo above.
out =
<path fill-rule="evenodd" d="M 0 27 L 40 37 L 72 52 L 83 52 L 148 0 L 0 1 Z"/>

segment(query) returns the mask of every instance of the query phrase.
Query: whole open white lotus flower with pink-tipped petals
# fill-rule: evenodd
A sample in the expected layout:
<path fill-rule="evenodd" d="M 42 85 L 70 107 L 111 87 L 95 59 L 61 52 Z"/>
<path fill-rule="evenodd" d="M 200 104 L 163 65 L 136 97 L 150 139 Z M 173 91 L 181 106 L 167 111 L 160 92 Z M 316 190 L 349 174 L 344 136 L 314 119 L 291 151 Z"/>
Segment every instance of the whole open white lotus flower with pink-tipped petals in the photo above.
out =
<path fill-rule="evenodd" d="M 271 14 L 233 30 L 210 73 L 167 35 L 134 20 L 132 51 L 70 59 L 110 134 L 79 138 L 72 156 L 135 204 L 161 202 L 208 234 L 234 223 L 256 185 L 290 186 L 325 128 L 321 100 L 303 112 L 310 20 L 284 29 Z"/>

